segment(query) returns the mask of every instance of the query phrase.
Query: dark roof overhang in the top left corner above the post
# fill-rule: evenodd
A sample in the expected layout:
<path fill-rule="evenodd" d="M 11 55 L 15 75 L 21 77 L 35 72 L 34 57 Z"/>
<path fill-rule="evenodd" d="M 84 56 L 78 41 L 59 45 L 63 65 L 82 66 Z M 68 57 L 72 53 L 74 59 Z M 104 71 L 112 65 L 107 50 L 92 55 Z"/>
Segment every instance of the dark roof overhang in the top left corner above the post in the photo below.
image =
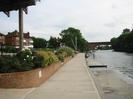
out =
<path fill-rule="evenodd" d="M 40 0 L 0 0 L 0 11 L 12 11 L 35 5 Z"/>

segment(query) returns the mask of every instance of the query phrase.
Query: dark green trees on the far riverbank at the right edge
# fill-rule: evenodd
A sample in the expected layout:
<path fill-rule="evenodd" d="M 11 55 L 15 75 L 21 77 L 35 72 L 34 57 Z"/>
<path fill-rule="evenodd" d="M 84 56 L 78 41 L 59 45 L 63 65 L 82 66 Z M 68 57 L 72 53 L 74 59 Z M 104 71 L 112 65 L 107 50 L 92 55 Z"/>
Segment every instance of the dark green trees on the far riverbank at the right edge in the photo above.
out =
<path fill-rule="evenodd" d="M 124 29 L 119 37 L 111 39 L 111 44 L 115 51 L 133 53 L 133 30 Z"/>

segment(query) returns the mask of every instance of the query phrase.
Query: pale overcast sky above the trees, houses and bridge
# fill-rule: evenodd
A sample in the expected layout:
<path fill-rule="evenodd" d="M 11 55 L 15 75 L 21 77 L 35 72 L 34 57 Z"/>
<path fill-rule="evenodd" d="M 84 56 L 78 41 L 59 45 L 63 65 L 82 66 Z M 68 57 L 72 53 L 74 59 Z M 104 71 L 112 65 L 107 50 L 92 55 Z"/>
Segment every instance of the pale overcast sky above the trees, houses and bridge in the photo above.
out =
<path fill-rule="evenodd" d="M 24 15 L 24 32 L 49 39 L 63 29 L 80 29 L 86 40 L 109 41 L 133 27 L 133 0 L 41 0 Z M 18 12 L 0 12 L 0 32 L 18 29 Z"/>

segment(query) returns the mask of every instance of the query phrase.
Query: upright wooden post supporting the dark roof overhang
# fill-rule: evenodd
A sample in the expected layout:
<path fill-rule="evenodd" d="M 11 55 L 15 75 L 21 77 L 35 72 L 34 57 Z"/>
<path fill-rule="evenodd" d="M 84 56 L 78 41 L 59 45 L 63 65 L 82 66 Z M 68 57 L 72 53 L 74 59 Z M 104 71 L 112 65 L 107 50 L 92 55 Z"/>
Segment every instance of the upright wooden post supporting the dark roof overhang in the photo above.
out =
<path fill-rule="evenodd" d="M 19 49 L 23 49 L 23 8 L 19 8 Z"/>

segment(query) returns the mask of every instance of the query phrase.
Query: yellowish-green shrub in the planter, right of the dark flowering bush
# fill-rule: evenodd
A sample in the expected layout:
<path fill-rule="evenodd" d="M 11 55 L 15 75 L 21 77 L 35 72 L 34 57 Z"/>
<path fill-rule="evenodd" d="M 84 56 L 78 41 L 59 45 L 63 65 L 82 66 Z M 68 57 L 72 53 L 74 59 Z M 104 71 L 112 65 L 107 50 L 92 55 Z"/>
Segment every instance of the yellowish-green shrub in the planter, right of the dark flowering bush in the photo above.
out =
<path fill-rule="evenodd" d="M 58 61 L 58 57 L 53 52 L 50 51 L 37 51 L 37 55 L 43 57 L 42 67 L 48 66 Z"/>

